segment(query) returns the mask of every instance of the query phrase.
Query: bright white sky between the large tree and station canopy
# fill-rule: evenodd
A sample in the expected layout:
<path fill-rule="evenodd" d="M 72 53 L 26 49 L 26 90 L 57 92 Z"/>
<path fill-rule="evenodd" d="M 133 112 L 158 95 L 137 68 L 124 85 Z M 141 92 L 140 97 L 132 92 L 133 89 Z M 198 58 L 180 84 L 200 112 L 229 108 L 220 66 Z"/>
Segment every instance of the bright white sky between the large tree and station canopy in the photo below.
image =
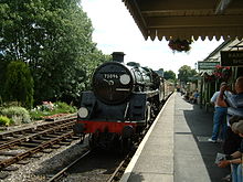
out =
<path fill-rule="evenodd" d="M 104 54 L 124 52 L 125 63 L 137 62 L 155 71 L 163 68 L 178 74 L 183 65 L 197 68 L 196 63 L 203 61 L 223 42 L 199 39 L 191 44 L 190 52 L 173 53 L 166 40 L 144 39 L 122 0 L 82 0 L 81 4 L 92 20 L 93 41 L 97 49 Z"/>

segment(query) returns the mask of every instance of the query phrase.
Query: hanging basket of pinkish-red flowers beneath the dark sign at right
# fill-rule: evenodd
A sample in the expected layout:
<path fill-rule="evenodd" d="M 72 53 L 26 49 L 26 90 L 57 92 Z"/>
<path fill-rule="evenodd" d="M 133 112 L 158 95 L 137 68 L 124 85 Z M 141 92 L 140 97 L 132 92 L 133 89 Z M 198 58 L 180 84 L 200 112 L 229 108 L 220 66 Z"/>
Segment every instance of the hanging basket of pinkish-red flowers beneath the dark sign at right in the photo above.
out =
<path fill-rule="evenodd" d="M 224 66 L 216 65 L 213 75 L 219 79 L 228 82 L 228 79 L 232 75 L 232 69 L 230 66 L 224 67 Z"/>

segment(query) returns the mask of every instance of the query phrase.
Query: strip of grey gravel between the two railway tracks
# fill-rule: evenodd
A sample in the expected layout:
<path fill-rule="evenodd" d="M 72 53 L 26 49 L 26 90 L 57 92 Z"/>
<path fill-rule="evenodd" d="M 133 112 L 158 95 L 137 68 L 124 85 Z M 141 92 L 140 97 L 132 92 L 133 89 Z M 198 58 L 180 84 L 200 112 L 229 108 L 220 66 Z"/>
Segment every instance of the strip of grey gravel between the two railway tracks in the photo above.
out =
<path fill-rule="evenodd" d="M 51 153 L 40 152 L 42 157 L 39 159 L 28 158 L 28 164 L 13 164 L 19 168 L 17 171 L 3 171 L 9 173 L 9 176 L 1 182 L 45 182 L 46 176 L 55 174 L 68 165 L 86 150 L 86 140 L 83 144 L 80 143 L 80 140 L 75 140 L 70 146 L 62 146 Z"/>

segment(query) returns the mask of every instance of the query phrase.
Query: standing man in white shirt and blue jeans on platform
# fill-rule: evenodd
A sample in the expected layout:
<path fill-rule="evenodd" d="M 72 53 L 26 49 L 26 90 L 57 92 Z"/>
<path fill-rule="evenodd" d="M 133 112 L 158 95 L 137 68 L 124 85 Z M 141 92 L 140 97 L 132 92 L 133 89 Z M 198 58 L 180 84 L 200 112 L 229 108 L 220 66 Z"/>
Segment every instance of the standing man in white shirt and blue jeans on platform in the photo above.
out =
<path fill-rule="evenodd" d="M 225 82 L 221 83 L 220 87 L 222 86 L 228 86 Z M 229 87 L 226 87 L 229 89 Z M 224 94 L 230 97 L 231 93 L 229 90 L 224 92 Z M 228 113 L 228 105 L 223 100 L 221 101 L 220 105 L 218 105 L 216 99 L 220 96 L 220 92 L 215 92 L 211 98 L 211 103 L 214 104 L 214 115 L 213 115 L 213 130 L 212 130 L 212 137 L 208 140 L 210 142 L 216 142 L 219 132 L 220 132 L 220 127 L 222 126 L 222 131 L 220 139 L 224 140 L 225 139 L 225 133 L 226 133 L 226 113 Z"/>

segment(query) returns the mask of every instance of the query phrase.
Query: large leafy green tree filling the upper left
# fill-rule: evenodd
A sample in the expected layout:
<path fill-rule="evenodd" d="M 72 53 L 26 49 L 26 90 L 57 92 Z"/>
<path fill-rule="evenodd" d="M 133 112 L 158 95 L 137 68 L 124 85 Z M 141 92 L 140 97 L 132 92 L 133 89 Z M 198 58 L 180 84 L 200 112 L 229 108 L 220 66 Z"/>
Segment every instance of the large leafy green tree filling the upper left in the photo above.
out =
<path fill-rule="evenodd" d="M 33 74 L 35 101 L 67 99 L 67 95 L 70 101 L 77 100 L 91 69 L 107 61 L 92 42 L 92 22 L 78 2 L 2 0 L 0 81 L 7 63 L 21 60 Z M 94 57 L 98 58 L 93 62 Z"/>

